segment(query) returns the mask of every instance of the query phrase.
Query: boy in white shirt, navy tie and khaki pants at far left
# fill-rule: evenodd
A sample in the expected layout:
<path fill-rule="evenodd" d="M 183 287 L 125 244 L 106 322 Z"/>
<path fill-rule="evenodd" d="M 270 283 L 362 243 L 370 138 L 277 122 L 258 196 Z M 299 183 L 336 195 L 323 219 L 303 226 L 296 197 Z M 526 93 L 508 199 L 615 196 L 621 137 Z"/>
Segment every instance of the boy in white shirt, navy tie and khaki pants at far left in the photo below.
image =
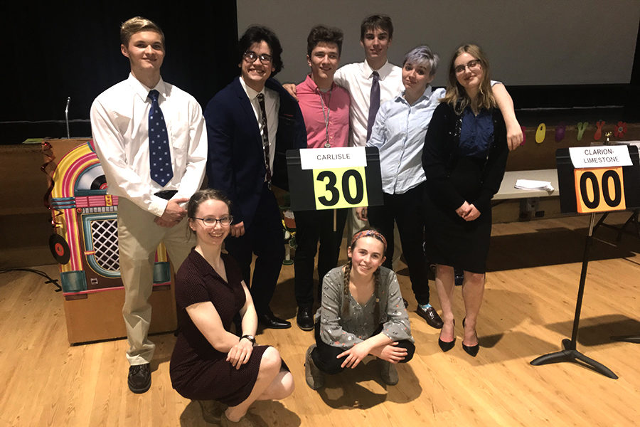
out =
<path fill-rule="evenodd" d="M 131 391 L 144 393 L 151 386 L 149 362 L 155 348 L 147 337 L 154 253 L 164 242 L 178 270 L 191 251 L 194 243 L 182 204 L 202 184 L 207 136 L 198 102 L 161 78 L 165 46 L 160 27 L 137 16 L 122 23 L 120 39 L 131 73 L 96 97 L 91 128 L 107 192 L 119 196 L 127 381 Z"/>

